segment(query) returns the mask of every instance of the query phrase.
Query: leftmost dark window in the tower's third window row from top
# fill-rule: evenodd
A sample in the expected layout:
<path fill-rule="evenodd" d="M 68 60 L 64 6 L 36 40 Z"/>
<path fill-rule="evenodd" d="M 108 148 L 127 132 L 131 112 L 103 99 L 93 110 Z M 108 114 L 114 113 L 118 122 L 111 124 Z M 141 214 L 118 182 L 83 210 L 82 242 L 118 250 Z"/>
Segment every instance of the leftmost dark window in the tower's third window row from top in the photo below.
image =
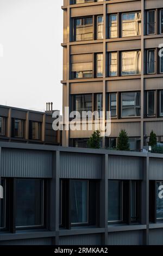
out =
<path fill-rule="evenodd" d="M 74 96 L 74 111 L 82 115 L 83 111 L 92 111 L 92 94 L 83 94 Z"/>

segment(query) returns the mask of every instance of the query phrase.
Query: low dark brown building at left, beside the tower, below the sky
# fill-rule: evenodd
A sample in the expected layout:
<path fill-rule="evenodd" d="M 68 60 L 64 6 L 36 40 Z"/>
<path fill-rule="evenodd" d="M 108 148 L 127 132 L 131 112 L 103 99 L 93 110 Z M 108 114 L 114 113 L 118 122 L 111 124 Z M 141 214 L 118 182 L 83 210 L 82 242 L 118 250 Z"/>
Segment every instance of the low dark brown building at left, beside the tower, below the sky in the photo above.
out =
<path fill-rule="evenodd" d="M 0 105 L 0 141 L 61 145 L 52 113 Z"/>

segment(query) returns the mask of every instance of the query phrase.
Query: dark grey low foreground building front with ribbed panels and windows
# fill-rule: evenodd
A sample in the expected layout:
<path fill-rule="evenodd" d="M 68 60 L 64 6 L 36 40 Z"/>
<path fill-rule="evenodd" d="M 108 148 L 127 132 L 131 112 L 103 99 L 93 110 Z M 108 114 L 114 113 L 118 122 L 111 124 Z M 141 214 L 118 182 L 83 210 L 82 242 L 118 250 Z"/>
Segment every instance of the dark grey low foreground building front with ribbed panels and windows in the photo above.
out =
<path fill-rule="evenodd" d="M 0 245 L 162 245 L 162 165 L 161 154 L 0 142 Z"/>

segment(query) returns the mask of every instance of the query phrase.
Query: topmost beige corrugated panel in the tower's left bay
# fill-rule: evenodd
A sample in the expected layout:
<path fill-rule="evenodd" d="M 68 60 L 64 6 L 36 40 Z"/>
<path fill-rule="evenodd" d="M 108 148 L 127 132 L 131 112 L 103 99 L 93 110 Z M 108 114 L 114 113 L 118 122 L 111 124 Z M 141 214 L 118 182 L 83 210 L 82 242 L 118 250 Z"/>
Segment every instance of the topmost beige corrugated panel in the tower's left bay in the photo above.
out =
<path fill-rule="evenodd" d="M 71 17 L 103 14 L 103 5 L 92 5 L 71 9 Z"/>

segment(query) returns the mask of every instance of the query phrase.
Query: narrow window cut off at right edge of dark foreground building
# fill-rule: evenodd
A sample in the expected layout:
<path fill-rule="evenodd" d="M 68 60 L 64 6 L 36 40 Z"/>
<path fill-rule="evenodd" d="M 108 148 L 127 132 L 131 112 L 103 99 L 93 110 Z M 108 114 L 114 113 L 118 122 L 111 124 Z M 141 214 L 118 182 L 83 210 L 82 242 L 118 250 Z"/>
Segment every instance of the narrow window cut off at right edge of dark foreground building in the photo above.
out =
<path fill-rule="evenodd" d="M 156 218 L 163 218 L 163 182 L 156 182 Z"/>

